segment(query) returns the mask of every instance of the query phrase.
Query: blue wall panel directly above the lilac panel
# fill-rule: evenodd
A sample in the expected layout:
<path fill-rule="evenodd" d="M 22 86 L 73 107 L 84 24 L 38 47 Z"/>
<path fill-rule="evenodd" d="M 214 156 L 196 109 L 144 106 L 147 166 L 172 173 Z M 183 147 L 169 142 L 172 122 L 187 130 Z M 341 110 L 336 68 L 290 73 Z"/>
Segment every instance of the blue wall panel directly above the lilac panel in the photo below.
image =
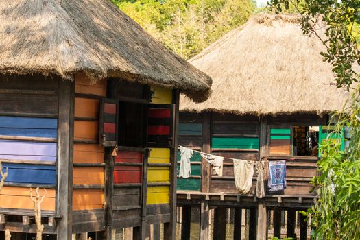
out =
<path fill-rule="evenodd" d="M 58 120 L 0 116 L 0 135 L 56 138 L 58 136 Z"/>

